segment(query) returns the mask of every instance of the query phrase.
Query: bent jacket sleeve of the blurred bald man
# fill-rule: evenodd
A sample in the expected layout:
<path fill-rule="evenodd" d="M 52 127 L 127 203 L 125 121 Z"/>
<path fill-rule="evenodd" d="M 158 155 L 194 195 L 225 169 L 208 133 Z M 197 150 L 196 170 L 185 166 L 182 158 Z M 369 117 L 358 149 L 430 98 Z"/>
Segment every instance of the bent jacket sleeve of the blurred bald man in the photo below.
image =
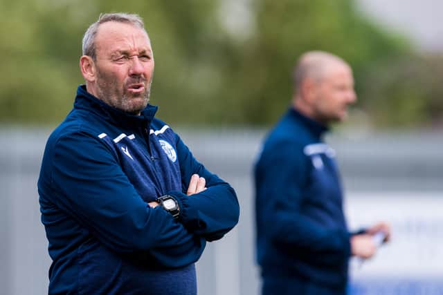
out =
<path fill-rule="evenodd" d="M 350 255 L 350 236 L 343 229 L 327 229 L 303 213 L 308 172 L 301 146 L 280 142 L 263 151 L 255 166 L 257 222 L 261 234 L 275 245 L 297 255 L 332 254 L 319 260 L 334 264 Z"/>

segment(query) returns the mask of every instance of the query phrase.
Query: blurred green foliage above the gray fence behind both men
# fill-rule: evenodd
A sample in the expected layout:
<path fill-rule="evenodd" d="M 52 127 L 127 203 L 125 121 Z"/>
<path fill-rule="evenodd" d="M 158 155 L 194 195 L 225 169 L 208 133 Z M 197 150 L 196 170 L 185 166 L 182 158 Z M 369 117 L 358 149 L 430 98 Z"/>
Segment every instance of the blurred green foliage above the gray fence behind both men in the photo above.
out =
<path fill-rule="evenodd" d="M 27 0 L 0 3 L 0 122 L 56 124 L 83 80 L 84 31 L 100 12 L 145 20 L 151 102 L 172 124 L 270 124 L 291 98 L 306 50 L 349 61 L 359 105 L 379 126 L 442 118 L 443 62 L 361 15 L 351 0 Z"/>

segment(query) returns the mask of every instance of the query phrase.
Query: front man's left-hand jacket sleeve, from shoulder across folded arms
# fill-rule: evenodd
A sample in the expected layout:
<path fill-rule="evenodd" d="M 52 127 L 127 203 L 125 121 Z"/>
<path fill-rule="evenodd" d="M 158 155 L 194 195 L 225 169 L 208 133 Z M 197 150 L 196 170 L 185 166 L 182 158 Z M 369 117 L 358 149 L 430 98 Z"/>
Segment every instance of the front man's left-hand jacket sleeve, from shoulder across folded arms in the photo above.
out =
<path fill-rule="evenodd" d="M 95 137 L 63 135 L 55 142 L 52 165 L 56 204 L 110 249 L 152 250 L 168 267 L 187 265 L 201 255 L 204 240 L 161 207 L 144 202 L 111 151 Z"/>

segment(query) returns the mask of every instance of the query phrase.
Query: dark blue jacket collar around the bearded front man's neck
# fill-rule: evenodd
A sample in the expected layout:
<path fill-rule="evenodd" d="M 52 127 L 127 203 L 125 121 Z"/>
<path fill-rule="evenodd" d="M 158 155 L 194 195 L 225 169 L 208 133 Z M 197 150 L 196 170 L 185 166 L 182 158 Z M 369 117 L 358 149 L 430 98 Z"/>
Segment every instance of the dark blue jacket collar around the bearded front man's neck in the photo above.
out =
<path fill-rule="evenodd" d="M 148 104 L 146 108 L 141 111 L 141 115 L 132 115 L 113 106 L 109 106 L 109 104 L 91 95 L 91 93 L 87 92 L 86 85 L 78 86 L 74 108 L 91 111 L 109 122 L 129 129 L 137 127 L 146 128 L 146 126 L 149 126 L 158 109 L 157 106 Z"/>

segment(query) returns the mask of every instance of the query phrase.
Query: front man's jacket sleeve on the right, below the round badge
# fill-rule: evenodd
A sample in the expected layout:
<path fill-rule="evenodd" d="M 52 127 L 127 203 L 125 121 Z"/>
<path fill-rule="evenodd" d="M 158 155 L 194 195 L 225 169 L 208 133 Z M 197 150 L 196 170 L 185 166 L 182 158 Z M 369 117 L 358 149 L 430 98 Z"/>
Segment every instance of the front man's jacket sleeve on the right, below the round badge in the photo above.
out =
<path fill-rule="evenodd" d="M 187 196 L 183 191 L 170 194 L 179 200 L 180 220 L 187 229 L 208 241 L 223 237 L 239 220 L 239 203 L 235 191 L 217 175 L 210 173 L 177 135 L 177 155 L 180 163 L 182 190 L 187 191 L 191 175 L 206 179 L 205 191 Z"/>

